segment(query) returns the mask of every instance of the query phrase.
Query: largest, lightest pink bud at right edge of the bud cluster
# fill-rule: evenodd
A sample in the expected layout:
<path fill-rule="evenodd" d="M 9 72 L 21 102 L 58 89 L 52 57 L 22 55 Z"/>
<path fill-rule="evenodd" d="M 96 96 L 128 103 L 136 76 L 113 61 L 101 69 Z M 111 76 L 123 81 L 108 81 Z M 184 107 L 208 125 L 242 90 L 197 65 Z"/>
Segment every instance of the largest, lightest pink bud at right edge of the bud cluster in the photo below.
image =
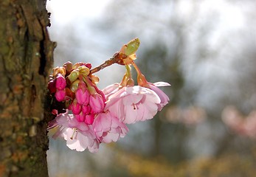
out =
<path fill-rule="evenodd" d="M 89 105 L 91 106 L 91 112 L 100 113 L 105 108 L 103 97 L 100 94 L 91 94 Z"/>

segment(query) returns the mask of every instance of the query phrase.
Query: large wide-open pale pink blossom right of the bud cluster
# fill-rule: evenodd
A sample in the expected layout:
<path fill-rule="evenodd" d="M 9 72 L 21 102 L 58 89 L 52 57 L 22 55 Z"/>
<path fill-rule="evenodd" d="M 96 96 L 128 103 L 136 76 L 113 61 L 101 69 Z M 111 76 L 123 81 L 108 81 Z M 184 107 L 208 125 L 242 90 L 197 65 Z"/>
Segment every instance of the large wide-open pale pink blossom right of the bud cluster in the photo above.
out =
<path fill-rule="evenodd" d="M 156 115 L 161 99 L 155 91 L 142 86 L 127 86 L 117 91 L 116 87 L 112 85 L 113 91 L 107 96 L 105 110 L 120 121 L 131 124 L 152 119 Z M 111 86 L 108 90 L 111 90 Z"/>

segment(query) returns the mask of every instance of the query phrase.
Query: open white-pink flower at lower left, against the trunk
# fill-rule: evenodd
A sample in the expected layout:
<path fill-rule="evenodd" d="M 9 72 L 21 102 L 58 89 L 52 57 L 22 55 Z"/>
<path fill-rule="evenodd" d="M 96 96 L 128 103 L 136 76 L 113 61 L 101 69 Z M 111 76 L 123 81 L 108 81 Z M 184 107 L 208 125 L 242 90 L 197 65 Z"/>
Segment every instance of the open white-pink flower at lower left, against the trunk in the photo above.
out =
<path fill-rule="evenodd" d="M 91 125 L 85 122 L 78 122 L 73 114 L 58 114 L 49 122 L 49 129 L 58 126 L 58 131 L 53 138 L 58 136 L 66 140 L 66 145 L 72 150 L 83 151 L 86 148 L 91 153 L 97 152 L 100 142 L 98 141 Z"/>

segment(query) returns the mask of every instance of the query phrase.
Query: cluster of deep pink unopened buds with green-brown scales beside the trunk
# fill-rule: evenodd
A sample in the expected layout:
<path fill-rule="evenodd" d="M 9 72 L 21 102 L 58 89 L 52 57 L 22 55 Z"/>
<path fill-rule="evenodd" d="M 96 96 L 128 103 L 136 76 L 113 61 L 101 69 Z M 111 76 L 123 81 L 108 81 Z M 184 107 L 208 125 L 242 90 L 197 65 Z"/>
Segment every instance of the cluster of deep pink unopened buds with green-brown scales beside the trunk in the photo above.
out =
<path fill-rule="evenodd" d="M 49 81 L 49 92 L 58 102 L 64 102 L 66 109 L 72 111 L 78 122 L 91 125 L 95 114 L 105 108 L 105 96 L 96 83 L 99 78 L 90 74 L 90 63 L 64 63 L 53 69 Z"/>

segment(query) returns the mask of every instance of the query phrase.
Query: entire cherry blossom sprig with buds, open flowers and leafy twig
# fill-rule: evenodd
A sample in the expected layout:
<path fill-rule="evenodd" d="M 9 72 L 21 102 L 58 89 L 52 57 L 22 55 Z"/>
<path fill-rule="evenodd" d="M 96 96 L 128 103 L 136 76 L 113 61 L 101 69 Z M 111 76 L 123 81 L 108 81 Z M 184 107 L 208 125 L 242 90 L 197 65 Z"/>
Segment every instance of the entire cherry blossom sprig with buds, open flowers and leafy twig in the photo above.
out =
<path fill-rule="evenodd" d="M 128 133 L 128 124 L 152 119 L 169 102 L 158 87 L 169 83 L 149 83 L 134 63 L 139 46 L 136 38 L 125 44 L 120 52 L 100 66 L 91 69 L 90 63 L 64 63 L 53 69 L 48 84 L 53 103 L 63 103 L 64 113 L 56 109 L 56 117 L 49 129 L 56 128 L 53 138 L 62 137 L 66 145 L 77 151 L 97 152 L 101 143 L 117 142 Z M 100 90 L 95 72 L 118 63 L 126 73 L 120 83 Z M 131 66 L 137 72 L 137 85 L 131 75 Z"/>

